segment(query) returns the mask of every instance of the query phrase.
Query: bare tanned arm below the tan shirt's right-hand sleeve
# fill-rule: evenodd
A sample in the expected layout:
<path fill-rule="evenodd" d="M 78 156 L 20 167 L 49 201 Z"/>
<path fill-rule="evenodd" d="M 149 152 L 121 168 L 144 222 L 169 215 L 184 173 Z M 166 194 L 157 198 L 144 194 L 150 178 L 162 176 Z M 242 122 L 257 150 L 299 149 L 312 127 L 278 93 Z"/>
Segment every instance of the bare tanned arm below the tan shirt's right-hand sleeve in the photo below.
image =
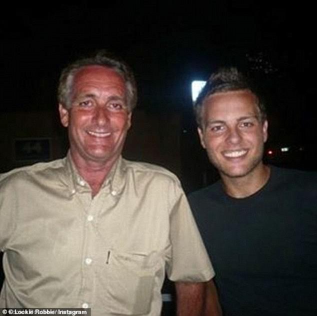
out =
<path fill-rule="evenodd" d="M 209 282 L 176 282 L 177 316 L 221 316 L 218 296 Z"/>

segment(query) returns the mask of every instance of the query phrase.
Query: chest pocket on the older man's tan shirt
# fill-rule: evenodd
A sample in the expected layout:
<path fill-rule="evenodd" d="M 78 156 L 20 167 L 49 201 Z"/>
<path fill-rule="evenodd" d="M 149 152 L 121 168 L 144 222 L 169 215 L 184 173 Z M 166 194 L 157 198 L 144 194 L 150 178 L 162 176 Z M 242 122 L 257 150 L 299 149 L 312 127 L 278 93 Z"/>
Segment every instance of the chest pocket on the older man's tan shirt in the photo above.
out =
<path fill-rule="evenodd" d="M 111 314 L 145 315 L 150 312 L 156 259 L 154 253 L 109 253 L 107 295 Z"/>

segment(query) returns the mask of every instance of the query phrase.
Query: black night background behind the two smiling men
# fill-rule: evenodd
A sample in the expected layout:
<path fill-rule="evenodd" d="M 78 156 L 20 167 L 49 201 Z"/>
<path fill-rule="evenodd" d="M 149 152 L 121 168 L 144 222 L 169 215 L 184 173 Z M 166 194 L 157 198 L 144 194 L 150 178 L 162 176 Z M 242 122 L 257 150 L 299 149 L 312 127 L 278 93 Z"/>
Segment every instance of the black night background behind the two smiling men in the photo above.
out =
<path fill-rule="evenodd" d="M 216 175 L 197 142 L 190 83 L 207 79 L 219 66 L 235 65 L 256 78 L 267 100 L 266 161 L 316 170 L 314 12 L 304 3 L 261 2 L 54 1 L 45 7 L 9 5 L 1 16 L 0 125 L 7 116 L 27 117 L 27 113 L 53 110 L 53 126 L 63 135 L 55 96 L 59 72 L 75 57 L 106 48 L 135 71 L 143 122 L 147 117 L 159 117 L 159 122 L 179 119 L 179 124 L 167 125 L 175 128 L 165 130 L 165 134 L 162 130 L 166 128 L 157 124 L 157 135 L 151 136 L 159 140 L 166 132 L 177 135 L 177 154 L 166 145 L 146 155 L 146 146 L 138 152 L 137 142 L 131 142 L 129 148 L 134 150 L 127 150 L 126 156 L 171 169 L 185 190 L 191 191 L 213 181 Z M 16 135 L 20 128 L 23 126 L 13 128 Z M 10 135 L 4 128 L 0 130 L 0 144 L 4 144 Z M 146 133 L 146 128 L 142 131 Z M 137 130 L 134 134 L 138 137 Z M 64 150 L 66 145 L 62 146 Z M 281 153 L 280 147 L 285 146 L 290 150 Z M 268 150 L 272 150 L 271 155 Z M 179 159 L 169 160 L 173 155 Z M 0 160 L 0 172 L 9 169 L 4 160 Z"/>

